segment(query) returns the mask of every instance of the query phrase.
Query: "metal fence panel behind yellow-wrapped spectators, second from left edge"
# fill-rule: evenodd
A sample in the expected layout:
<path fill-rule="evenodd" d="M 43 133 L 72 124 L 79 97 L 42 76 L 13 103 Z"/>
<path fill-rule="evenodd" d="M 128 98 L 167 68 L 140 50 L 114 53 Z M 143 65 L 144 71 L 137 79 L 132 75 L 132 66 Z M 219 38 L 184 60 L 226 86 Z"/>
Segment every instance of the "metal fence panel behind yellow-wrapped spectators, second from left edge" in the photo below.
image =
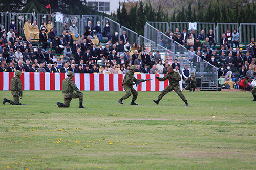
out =
<path fill-rule="evenodd" d="M 13 13 L 12 17 L 16 23 L 17 29 L 19 31 L 20 34 L 24 34 L 23 31 L 23 27 L 25 25 L 25 22 L 27 22 L 28 20 L 31 21 L 31 24 L 33 23 L 33 21 L 35 20 L 35 14 L 29 14 L 29 13 Z M 38 23 L 37 23 L 38 26 Z M 40 27 L 40 26 L 38 26 Z"/>

